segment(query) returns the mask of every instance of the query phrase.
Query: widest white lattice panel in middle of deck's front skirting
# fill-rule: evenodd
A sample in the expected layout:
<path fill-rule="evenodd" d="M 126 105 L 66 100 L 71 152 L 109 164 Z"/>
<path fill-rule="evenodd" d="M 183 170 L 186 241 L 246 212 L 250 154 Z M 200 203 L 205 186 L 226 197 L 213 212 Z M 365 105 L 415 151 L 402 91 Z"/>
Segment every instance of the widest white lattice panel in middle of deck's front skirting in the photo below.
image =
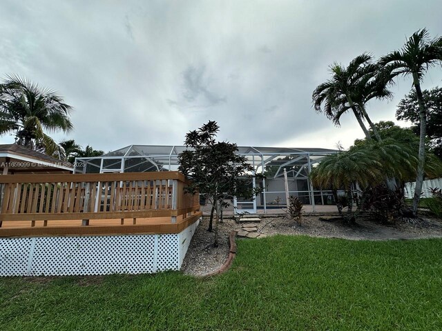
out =
<path fill-rule="evenodd" d="M 30 275 L 155 272 L 155 235 L 37 238 Z"/>

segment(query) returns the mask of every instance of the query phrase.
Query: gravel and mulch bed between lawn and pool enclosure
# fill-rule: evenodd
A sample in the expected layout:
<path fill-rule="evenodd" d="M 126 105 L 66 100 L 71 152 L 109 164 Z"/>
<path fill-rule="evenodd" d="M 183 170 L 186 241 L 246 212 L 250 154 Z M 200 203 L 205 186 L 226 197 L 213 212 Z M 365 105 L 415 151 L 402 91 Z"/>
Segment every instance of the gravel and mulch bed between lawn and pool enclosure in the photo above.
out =
<path fill-rule="evenodd" d="M 403 223 L 382 225 L 371 221 L 358 221 L 354 225 L 348 225 L 341 220 L 320 221 L 317 216 L 302 217 L 301 225 L 287 217 L 263 217 L 260 223 L 250 224 L 256 225 L 258 232 L 267 236 L 304 234 L 311 237 L 350 240 L 442 238 L 442 221 L 439 219 L 425 219 L 425 226 L 422 227 Z M 229 255 L 229 232 L 242 228 L 242 224 L 225 219 L 219 225 L 220 245 L 213 248 L 213 232 L 206 230 L 208 226 L 209 219 L 204 217 L 184 259 L 182 270 L 185 274 L 204 276 L 220 268 Z"/>

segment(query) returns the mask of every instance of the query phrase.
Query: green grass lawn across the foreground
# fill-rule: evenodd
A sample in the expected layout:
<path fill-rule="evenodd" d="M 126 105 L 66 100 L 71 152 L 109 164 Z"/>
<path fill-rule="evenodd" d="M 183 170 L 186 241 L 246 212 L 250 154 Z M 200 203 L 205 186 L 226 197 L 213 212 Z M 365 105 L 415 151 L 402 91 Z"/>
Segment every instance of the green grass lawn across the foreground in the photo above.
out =
<path fill-rule="evenodd" d="M 2 330 L 442 330 L 442 240 L 239 240 L 229 272 L 0 279 Z"/>

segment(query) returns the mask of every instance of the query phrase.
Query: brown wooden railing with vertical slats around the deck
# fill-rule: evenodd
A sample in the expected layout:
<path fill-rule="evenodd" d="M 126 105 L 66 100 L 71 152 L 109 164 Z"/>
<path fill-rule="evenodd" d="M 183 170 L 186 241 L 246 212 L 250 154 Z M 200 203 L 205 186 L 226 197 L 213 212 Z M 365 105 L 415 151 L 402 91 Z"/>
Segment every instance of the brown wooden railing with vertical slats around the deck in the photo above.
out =
<path fill-rule="evenodd" d="M 26 174 L 0 176 L 3 221 L 133 219 L 190 216 L 198 194 L 184 192 L 180 172 Z"/>

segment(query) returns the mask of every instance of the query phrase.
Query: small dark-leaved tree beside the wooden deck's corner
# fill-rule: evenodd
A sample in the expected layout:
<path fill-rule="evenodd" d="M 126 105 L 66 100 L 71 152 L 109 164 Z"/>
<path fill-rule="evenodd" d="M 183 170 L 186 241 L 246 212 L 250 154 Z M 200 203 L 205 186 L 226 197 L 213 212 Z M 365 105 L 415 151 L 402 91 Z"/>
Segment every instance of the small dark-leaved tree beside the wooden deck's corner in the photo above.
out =
<path fill-rule="evenodd" d="M 218 246 L 218 221 L 224 200 L 233 196 L 251 198 L 260 192 L 249 188 L 256 174 L 247 158 L 236 154 L 236 143 L 216 141 L 218 130 L 218 124 L 209 121 L 187 133 L 184 144 L 188 149 L 178 156 L 180 172 L 191 179 L 187 190 L 200 192 L 214 207 L 215 247 Z M 211 221 L 212 217 L 213 214 Z"/>

